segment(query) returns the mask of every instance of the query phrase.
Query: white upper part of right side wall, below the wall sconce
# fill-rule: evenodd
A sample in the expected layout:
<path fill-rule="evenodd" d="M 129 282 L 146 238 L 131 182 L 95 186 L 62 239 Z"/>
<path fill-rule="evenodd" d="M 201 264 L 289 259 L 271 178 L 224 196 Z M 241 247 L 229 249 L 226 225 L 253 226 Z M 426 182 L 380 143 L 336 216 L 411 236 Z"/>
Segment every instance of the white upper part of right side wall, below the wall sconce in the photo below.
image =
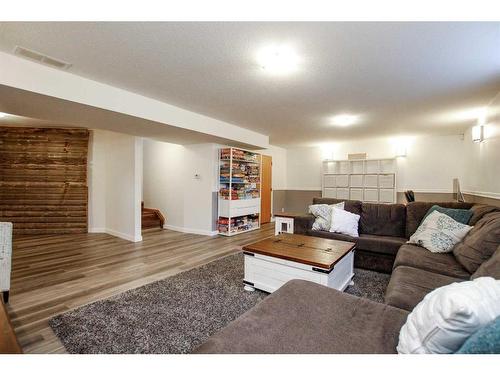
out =
<path fill-rule="evenodd" d="M 472 141 L 472 128 L 465 133 L 464 193 L 500 199 L 500 93 L 486 111 L 485 140 Z"/>

